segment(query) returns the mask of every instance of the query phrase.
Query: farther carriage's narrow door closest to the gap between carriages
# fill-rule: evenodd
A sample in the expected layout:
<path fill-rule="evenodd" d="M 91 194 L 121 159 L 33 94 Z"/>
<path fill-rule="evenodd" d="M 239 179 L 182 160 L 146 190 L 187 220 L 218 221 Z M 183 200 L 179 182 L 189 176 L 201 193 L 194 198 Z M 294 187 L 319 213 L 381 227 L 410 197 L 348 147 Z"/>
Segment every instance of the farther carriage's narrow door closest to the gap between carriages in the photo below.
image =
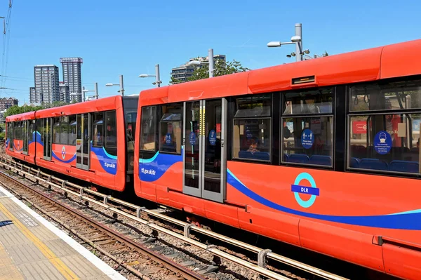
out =
<path fill-rule="evenodd" d="M 89 170 L 91 164 L 91 115 L 76 115 L 76 167 Z"/>

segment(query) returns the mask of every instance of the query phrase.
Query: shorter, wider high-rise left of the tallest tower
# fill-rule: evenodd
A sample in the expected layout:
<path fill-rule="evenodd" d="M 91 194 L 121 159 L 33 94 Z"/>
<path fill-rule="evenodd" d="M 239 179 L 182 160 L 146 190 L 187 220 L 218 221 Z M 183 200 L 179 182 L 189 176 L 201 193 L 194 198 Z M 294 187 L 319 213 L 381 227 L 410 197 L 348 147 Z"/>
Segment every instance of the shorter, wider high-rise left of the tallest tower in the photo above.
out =
<path fill-rule="evenodd" d="M 58 67 L 55 65 L 34 66 L 35 93 L 40 95 L 40 102 L 52 103 L 60 100 L 60 89 L 58 87 Z M 29 98 L 31 97 L 29 93 Z"/>

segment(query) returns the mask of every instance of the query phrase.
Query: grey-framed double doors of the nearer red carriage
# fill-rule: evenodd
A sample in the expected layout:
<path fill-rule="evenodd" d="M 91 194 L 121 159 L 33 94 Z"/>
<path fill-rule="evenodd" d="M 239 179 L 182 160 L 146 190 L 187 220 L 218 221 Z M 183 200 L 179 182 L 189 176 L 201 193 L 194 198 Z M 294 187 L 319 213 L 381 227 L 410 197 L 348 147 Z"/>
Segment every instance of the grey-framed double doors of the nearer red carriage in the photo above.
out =
<path fill-rule="evenodd" d="M 185 102 L 183 193 L 223 202 L 226 196 L 227 100 Z"/>

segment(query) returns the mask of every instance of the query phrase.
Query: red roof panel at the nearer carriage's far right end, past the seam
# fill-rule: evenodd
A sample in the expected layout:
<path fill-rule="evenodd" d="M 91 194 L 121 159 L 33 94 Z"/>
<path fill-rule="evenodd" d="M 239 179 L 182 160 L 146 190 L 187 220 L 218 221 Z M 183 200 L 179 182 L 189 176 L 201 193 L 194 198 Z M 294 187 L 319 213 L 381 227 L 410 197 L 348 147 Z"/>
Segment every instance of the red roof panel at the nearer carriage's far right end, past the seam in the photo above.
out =
<path fill-rule="evenodd" d="M 421 40 L 385 46 L 382 52 L 381 79 L 421 74 Z"/>

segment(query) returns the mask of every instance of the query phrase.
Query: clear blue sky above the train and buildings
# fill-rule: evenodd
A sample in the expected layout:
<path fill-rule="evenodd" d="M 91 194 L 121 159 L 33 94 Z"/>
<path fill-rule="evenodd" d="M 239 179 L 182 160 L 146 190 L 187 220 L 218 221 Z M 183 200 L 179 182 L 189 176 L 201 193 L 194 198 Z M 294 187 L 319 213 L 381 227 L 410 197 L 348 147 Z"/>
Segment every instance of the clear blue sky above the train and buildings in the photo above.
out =
<path fill-rule="evenodd" d="M 8 10 L 0 2 L 0 16 Z M 420 1 L 58 1 L 15 0 L 11 13 L 7 88 L 1 97 L 29 101 L 34 65 L 55 64 L 60 57 L 81 57 L 82 84 L 100 96 L 117 94 L 124 75 L 126 94 L 152 88 L 161 66 L 168 84 L 171 68 L 208 48 L 227 60 L 258 69 L 293 62 L 293 45 L 267 48 L 268 41 L 288 41 L 302 23 L 304 48 L 310 55 L 356 51 L 420 39 Z M 1 40 L 3 38 L 0 37 Z M 414 55 L 421 55 L 415 53 Z M 0 65 L 1 66 L 1 65 Z"/>

